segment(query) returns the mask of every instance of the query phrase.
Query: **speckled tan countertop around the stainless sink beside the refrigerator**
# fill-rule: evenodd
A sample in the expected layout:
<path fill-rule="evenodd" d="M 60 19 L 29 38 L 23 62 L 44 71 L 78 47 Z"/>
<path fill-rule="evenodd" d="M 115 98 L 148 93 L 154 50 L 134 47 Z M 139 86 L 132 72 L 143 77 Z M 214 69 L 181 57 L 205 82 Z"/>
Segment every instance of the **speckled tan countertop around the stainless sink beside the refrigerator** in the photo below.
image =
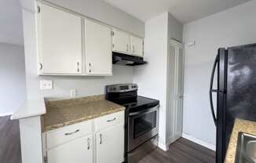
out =
<path fill-rule="evenodd" d="M 235 163 L 238 132 L 245 132 L 256 136 L 256 121 L 236 119 L 232 130 L 232 136 L 229 139 L 229 148 L 227 150 L 225 163 Z"/>

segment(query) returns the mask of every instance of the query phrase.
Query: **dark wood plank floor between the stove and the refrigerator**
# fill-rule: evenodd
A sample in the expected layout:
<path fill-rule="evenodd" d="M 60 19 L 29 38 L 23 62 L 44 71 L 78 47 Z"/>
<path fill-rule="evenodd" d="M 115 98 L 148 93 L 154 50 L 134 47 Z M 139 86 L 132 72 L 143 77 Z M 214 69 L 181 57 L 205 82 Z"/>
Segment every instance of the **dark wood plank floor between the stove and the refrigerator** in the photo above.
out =
<path fill-rule="evenodd" d="M 178 139 L 168 151 L 153 150 L 139 163 L 214 163 L 215 152 L 188 139 Z"/>

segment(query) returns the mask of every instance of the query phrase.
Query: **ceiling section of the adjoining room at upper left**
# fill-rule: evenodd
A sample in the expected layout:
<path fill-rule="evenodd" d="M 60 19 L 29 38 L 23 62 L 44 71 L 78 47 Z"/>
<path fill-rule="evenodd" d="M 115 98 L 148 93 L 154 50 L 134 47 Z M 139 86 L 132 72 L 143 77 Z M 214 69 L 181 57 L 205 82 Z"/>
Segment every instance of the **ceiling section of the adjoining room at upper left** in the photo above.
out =
<path fill-rule="evenodd" d="M 23 45 L 20 0 L 0 0 L 0 42 Z"/>

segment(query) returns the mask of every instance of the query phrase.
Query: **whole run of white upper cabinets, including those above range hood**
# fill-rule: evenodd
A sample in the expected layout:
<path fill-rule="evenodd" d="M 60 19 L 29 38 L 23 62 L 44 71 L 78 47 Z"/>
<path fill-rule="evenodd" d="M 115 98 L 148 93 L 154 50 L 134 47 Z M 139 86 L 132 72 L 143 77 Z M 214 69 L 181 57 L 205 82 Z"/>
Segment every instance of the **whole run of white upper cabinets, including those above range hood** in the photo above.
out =
<path fill-rule="evenodd" d="M 109 76 L 112 51 L 143 56 L 142 38 L 47 2 L 37 5 L 39 75 Z"/>

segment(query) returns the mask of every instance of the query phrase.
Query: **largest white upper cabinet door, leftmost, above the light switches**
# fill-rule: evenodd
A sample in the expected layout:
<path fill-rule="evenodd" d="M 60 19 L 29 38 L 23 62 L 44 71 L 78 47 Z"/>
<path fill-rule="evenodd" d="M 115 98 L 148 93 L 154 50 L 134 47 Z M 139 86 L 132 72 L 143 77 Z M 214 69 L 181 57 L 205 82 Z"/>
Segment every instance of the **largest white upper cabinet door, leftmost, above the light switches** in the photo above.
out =
<path fill-rule="evenodd" d="M 40 4 L 38 53 L 41 74 L 81 74 L 81 18 Z"/>

